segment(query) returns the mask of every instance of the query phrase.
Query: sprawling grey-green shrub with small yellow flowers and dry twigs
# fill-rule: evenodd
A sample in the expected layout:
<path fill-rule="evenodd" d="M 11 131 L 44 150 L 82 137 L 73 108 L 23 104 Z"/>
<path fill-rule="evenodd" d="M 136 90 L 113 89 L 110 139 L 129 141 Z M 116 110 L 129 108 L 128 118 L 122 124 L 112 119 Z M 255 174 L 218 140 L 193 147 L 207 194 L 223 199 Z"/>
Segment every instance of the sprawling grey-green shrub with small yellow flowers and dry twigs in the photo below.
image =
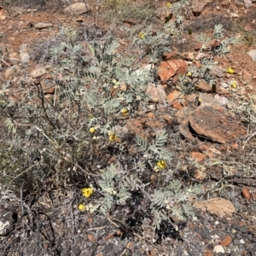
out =
<path fill-rule="evenodd" d="M 171 50 L 168 42 L 183 32 L 183 19 L 177 16 L 156 33 L 150 29 L 130 32 L 133 47 L 140 53 L 138 59 L 147 55 L 151 64 L 157 64 Z M 223 27 L 216 26 L 214 37 L 222 38 L 222 33 Z M 201 34 L 198 39 L 204 45 L 201 50 L 207 50 L 211 38 Z M 201 186 L 185 188 L 178 180 L 166 183 L 163 179 L 164 173 L 172 173 L 166 131 L 156 131 L 150 142 L 122 129 L 127 115 L 149 109 L 150 97 L 145 91 L 149 82 L 157 83 L 155 70 L 136 70 L 136 58 L 119 55 L 119 44 L 111 35 L 94 40 L 85 33 L 84 41 L 81 44 L 79 32 L 73 28 L 63 28 L 46 44 L 42 54 L 54 67 L 56 78 L 53 96 L 46 96 L 35 85 L 23 86 L 25 96 L 20 101 L 3 97 L 1 115 L 9 133 L 0 148 L 1 182 L 19 185 L 25 181 L 31 190 L 46 181 L 57 188 L 90 188 L 91 196 L 86 196 L 90 207 L 80 202 L 80 209 L 104 214 L 116 206 L 124 207 L 139 193 L 145 199 L 145 211 L 154 216 L 155 230 L 174 216 L 190 218 L 189 199 Z M 191 68 L 189 72 L 195 79 L 211 79 L 213 57 L 226 53 L 226 45 L 234 42 L 234 38 L 223 39 L 211 49 L 212 57 L 201 61 L 200 70 Z M 184 84 L 186 78 L 180 80 Z M 3 91 L 8 87 L 5 84 Z M 110 165 L 113 156 L 116 161 Z M 148 178 L 152 174 L 157 185 Z"/>

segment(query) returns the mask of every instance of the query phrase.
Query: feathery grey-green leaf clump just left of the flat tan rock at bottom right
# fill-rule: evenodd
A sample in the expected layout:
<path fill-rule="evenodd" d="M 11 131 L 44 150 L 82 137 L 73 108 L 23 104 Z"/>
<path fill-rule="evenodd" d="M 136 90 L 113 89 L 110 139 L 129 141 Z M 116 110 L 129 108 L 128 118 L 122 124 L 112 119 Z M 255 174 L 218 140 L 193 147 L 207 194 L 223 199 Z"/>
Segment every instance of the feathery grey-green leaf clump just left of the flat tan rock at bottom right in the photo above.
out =
<path fill-rule="evenodd" d="M 185 189 L 178 180 L 163 186 L 162 189 L 155 189 L 151 198 L 151 212 L 154 214 L 154 229 L 160 229 L 160 223 L 169 216 L 185 220 L 194 216 L 193 207 L 189 198 L 201 192 L 201 186 L 195 185 Z"/>

